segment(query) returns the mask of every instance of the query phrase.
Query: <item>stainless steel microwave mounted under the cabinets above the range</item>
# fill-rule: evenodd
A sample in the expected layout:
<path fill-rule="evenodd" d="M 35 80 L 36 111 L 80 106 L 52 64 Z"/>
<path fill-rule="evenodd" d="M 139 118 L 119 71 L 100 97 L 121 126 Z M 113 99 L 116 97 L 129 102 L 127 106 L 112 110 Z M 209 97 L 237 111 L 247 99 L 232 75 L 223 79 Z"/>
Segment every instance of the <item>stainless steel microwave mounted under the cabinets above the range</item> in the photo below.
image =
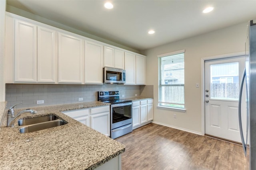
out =
<path fill-rule="evenodd" d="M 125 70 L 104 67 L 103 83 L 125 83 Z"/>

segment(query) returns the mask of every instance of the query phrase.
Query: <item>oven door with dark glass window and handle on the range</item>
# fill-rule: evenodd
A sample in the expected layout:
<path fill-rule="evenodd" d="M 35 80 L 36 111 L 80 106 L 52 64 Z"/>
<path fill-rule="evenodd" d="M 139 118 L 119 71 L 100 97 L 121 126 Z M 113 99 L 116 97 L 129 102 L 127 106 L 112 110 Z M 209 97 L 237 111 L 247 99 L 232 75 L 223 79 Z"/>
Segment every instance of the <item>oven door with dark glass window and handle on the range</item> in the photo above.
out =
<path fill-rule="evenodd" d="M 111 105 L 111 129 L 132 123 L 132 102 Z"/>

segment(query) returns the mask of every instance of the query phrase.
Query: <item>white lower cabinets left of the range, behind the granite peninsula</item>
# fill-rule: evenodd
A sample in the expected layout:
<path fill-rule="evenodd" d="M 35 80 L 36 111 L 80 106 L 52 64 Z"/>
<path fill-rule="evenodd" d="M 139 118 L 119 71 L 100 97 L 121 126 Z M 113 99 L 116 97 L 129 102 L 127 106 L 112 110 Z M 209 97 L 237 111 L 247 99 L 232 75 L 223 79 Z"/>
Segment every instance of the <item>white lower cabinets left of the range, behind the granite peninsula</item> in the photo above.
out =
<path fill-rule="evenodd" d="M 63 111 L 62 113 L 106 136 L 110 136 L 110 106 Z"/>

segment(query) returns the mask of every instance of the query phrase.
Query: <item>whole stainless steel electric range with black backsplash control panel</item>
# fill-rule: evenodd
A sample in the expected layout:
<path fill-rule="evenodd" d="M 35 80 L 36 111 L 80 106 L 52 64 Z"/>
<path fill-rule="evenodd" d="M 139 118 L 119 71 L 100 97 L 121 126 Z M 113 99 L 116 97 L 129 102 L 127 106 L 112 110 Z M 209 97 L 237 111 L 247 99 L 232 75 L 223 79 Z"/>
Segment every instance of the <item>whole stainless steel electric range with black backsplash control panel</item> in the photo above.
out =
<path fill-rule="evenodd" d="M 119 98 L 119 91 L 100 91 L 98 101 L 110 103 L 110 137 L 132 132 L 132 101 Z"/>

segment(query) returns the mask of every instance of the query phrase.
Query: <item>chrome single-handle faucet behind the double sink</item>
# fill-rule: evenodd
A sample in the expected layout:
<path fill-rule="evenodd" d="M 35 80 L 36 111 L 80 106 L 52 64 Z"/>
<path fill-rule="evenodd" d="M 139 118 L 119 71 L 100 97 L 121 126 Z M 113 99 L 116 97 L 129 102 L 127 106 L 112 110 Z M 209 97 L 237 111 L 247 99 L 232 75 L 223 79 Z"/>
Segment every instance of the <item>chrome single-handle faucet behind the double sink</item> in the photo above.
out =
<path fill-rule="evenodd" d="M 22 102 L 18 103 L 18 104 L 22 104 Z M 13 108 L 16 105 L 18 105 L 18 104 L 15 104 L 14 106 L 10 107 L 10 109 L 8 109 L 8 113 L 7 113 L 7 127 L 13 127 L 14 126 L 14 122 L 23 113 L 31 113 L 31 114 L 36 113 L 36 110 L 34 110 L 34 109 L 26 109 L 26 110 L 20 111 L 16 116 L 14 116 L 14 109 Z"/>

